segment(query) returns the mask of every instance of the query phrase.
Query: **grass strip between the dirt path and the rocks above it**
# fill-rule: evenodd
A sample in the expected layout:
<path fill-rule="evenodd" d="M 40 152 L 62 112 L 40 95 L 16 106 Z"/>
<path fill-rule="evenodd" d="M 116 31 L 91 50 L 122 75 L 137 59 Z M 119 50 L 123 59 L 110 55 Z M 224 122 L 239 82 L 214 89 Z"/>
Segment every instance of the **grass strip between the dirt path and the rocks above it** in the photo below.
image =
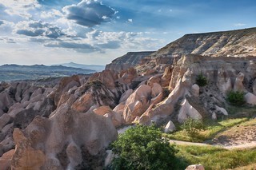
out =
<path fill-rule="evenodd" d="M 235 119 L 227 119 L 224 121 L 212 121 L 206 120 L 204 121 L 204 130 L 198 132 L 195 136 L 187 136 L 186 132 L 178 127 L 178 131 L 166 134 L 164 133 L 163 136 L 166 136 L 170 139 L 174 140 L 184 140 L 184 141 L 193 141 L 193 142 L 202 142 L 205 140 L 213 139 L 214 136 L 218 134 L 218 132 L 223 132 L 228 128 L 233 127 L 234 125 L 239 125 L 242 122 L 248 121 L 248 118 L 235 118 Z"/>

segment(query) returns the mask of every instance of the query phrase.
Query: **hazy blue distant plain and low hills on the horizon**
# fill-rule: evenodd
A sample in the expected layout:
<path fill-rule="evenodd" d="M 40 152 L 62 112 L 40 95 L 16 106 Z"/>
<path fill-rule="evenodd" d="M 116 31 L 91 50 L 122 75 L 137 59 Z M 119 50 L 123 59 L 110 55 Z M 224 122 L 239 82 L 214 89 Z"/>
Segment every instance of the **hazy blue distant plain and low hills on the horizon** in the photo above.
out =
<path fill-rule="evenodd" d="M 63 65 L 1 65 L 0 81 L 38 80 L 46 77 L 65 77 L 95 72 L 93 69 L 80 69 Z"/>

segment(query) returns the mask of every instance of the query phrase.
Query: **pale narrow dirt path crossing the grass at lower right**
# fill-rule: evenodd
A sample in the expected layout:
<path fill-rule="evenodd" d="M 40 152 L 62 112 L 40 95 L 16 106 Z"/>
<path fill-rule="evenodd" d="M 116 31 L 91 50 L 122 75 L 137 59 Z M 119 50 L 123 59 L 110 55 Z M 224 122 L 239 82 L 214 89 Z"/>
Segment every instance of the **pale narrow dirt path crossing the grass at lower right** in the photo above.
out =
<path fill-rule="evenodd" d="M 205 143 L 198 143 L 198 142 L 188 142 L 182 140 L 170 140 L 170 144 L 180 144 L 180 145 L 194 145 L 194 146 L 216 146 L 226 149 L 246 149 L 246 148 L 256 148 L 256 141 L 247 143 L 247 144 L 205 144 Z"/>

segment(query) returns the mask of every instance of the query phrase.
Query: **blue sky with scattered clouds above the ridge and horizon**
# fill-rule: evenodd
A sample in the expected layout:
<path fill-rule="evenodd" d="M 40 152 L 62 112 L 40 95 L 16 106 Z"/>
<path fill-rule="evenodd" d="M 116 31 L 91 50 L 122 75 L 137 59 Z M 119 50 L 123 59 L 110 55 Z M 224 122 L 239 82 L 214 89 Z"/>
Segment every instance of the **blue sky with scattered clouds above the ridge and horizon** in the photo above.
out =
<path fill-rule="evenodd" d="M 255 26 L 254 0 L 0 0 L 0 65 L 106 65 L 184 34 Z"/>

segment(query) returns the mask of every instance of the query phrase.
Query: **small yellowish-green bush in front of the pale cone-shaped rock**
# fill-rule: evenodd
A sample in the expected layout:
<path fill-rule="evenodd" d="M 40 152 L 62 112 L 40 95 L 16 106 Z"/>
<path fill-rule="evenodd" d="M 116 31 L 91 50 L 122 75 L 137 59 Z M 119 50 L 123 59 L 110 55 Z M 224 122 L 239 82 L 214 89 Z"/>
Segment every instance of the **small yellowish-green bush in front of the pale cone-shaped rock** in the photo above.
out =
<path fill-rule="evenodd" d="M 183 125 L 181 126 L 182 130 L 186 132 L 188 136 L 195 137 L 198 135 L 198 132 L 204 129 L 202 121 L 194 120 L 188 118 Z"/>

